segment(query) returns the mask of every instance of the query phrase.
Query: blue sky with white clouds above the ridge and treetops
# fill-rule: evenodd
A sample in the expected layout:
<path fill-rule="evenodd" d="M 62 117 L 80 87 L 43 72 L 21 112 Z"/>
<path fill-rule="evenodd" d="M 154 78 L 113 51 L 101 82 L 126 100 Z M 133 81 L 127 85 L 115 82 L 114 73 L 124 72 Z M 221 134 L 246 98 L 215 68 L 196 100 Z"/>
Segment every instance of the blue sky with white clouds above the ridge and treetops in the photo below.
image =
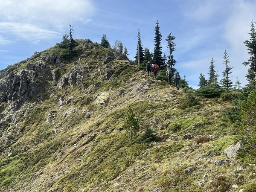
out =
<path fill-rule="evenodd" d="M 73 38 L 100 42 L 106 34 L 110 44 L 122 41 L 134 60 L 140 29 L 143 47 L 154 51 L 154 29 L 159 21 L 163 53 L 165 39 L 175 36 L 181 76 L 197 88 L 199 74 L 208 77 L 211 59 L 218 80 L 224 70 L 227 50 L 233 81 L 247 84 L 249 58 L 243 41 L 249 39 L 256 20 L 255 0 L 0 0 L 0 70 L 62 41 L 73 26 Z"/>

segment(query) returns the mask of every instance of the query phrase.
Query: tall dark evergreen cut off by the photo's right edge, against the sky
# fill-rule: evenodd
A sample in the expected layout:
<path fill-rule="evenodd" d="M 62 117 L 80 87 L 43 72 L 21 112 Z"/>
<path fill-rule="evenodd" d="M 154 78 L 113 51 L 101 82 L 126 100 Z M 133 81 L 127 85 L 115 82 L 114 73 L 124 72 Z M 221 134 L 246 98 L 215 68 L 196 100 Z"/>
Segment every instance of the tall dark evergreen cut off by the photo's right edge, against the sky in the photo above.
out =
<path fill-rule="evenodd" d="M 249 81 L 256 81 L 256 31 L 255 31 L 255 22 L 252 22 L 250 29 L 250 40 L 244 41 L 245 46 L 247 47 L 250 58 L 248 61 L 244 61 L 245 66 L 249 66 L 251 74 L 248 74 L 246 77 Z M 249 72 L 249 71 L 248 71 Z"/>

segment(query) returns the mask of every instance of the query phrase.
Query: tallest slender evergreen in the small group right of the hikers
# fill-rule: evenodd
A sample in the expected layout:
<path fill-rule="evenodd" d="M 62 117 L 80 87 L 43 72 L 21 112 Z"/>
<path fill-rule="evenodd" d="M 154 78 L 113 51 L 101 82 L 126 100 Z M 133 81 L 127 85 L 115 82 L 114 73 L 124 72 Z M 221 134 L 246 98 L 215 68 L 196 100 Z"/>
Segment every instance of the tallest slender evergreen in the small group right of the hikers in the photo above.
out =
<path fill-rule="evenodd" d="M 221 84 L 224 88 L 229 89 L 233 87 L 233 82 L 230 80 L 230 74 L 232 73 L 231 70 L 233 69 L 233 67 L 230 67 L 228 65 L 230 61 L 229 61 L 229 56 L 227 54 L 226 49 L 225 49 L 223 58 L 224 58 L 223 64 L 225 64 L 225 70 L 222 72 L 223 79 L 221 79 Z"/>

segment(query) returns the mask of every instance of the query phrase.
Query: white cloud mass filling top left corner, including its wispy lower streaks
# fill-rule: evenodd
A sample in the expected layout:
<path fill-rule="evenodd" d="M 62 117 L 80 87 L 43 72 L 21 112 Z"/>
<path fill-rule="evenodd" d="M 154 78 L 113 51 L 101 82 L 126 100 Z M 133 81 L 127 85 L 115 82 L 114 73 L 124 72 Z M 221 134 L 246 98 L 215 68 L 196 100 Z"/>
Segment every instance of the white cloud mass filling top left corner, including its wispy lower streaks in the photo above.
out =
<path fill-rule="evenodd" d="M 0 1 L 0 31 L 5 39 L 46 40 L 69 24 L 90 22 L 93 11 L 91 0 Z"/>

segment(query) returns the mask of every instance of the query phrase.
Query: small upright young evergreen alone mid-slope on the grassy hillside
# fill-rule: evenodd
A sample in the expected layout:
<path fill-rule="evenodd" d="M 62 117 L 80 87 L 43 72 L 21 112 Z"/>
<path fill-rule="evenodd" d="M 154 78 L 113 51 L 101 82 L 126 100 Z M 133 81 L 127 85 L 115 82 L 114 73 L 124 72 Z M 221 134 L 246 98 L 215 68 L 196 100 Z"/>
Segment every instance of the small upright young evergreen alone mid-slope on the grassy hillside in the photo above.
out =
<path fill-rule="evenodd" d="M 140 126 L 139 120 L 135 117 L 134 111 L 131 109 L 131 107 L 128 107 L 127 109 L 123 128 L 126 131 L 125 137 L 128 140 L 129 144 L 134 144 L 137 140 Z"/>

